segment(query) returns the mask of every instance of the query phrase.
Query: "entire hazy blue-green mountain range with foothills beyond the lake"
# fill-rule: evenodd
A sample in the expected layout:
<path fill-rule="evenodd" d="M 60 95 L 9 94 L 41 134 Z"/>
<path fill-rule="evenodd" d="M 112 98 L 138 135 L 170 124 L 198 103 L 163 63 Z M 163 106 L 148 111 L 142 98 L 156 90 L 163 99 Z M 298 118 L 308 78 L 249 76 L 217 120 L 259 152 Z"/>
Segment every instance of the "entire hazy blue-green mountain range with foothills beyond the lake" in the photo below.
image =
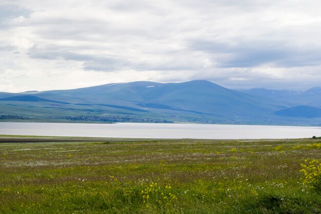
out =
<path fill-rule="evenodd" d="M 0 92 L 0 121 L 318 125 L 320 107 L 319 87 L 237 91 L 204 80 Z"/>

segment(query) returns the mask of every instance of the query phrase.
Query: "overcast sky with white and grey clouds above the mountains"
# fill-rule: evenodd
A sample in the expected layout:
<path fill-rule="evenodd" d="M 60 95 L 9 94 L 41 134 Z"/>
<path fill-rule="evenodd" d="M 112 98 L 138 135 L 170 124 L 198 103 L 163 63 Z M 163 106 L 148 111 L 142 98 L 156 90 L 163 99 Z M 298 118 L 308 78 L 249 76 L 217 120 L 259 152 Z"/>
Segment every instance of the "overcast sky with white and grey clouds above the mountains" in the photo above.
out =
<path fill-rule="evenodd" d="M 318 0 L 1 0 L 0 91 L 321 87 Z"/>

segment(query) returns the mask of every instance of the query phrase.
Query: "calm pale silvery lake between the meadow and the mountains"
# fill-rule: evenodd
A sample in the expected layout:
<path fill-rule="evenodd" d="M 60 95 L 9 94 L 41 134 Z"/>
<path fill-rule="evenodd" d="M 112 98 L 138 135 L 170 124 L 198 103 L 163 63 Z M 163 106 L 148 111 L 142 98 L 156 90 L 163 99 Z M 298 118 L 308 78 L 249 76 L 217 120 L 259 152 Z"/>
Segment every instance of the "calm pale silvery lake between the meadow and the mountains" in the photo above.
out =
<path fill-rule="evenodd" d="M 321 127 L 208 124 L 0 123 L 0 134 L 193 139 L 284 139 L 321 136 Z"/>

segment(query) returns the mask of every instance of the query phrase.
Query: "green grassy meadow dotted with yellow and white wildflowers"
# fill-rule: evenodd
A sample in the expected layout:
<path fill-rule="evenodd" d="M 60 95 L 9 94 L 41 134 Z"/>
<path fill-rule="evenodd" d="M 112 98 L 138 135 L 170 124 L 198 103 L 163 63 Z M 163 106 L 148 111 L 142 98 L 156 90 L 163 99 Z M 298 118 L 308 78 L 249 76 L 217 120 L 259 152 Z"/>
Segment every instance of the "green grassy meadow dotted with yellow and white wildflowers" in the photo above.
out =
<path fill-rule="evenodd" d="M 0 213 L 321 213 L 320 139 L 0 140 Z"/>

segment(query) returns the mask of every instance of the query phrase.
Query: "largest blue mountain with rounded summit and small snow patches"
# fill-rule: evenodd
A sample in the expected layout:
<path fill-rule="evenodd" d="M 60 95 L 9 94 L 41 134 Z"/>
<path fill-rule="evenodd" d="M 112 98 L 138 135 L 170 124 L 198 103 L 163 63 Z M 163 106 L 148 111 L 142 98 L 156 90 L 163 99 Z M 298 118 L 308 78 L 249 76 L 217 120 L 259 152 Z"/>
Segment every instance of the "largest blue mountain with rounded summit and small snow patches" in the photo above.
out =
<path fill-rule="evenodd" d="M 135 108 L 167 109 L 216 116 L 245 116 L 274 107 L 257 102 L 252 96 L 208 81 L 186 83 L 117 83 L 74 90 L 46 91 L 56 99 L 90 104 L 126 105 Z M 38 94 L 39 96 L 41 94 Z M 53 98 L 51 96 L 51 98 Z M 72 98 L 72 99 L 70 99 Z"/>

